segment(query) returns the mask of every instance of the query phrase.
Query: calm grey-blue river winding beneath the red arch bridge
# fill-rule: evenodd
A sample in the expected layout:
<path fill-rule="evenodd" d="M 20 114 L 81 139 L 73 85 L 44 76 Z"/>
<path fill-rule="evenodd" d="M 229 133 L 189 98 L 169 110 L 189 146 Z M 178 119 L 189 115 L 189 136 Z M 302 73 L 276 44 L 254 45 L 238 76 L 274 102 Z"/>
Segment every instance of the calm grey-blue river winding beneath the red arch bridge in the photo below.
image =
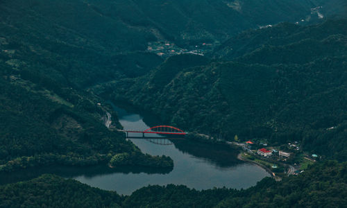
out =
<path fill-rule="evenodd" d="M 146 116 L 145 122 L 140 114 L 119 107 L 115 107 L 115 110 L 124 129 L 144 130 L 149 128 L 149 125 L 155 125 L 155 119 L 151 119 L 151 116 Z M 142 135 L 132 133 L 131 136 Z M 165 141 L 166 144 L 172 143 L 171 145 L 153 144 L 146 139 L 131 139 L 131 141 L 143 153 L 171 157 L 174 160 L 174 168 L 158 170 L 143 167 L 108 168 L 105 165 L 87 168 L 51 166 L 6 175 L 2 177 L 3 182 L 0 184 L 15 182 L 19 178 L 20 180 L 30 179 L 42 173 L 54 173 L 74 178 L 92 187 L 129 195 L 136 189 L 149 184 L 184 184 L 197 190 L 214 187 L 246 189 L 262 178 L 270 176 L 260 166 L 239 161 L 237 150 L 226 145 L 206 144 L 187 139 Z"/>

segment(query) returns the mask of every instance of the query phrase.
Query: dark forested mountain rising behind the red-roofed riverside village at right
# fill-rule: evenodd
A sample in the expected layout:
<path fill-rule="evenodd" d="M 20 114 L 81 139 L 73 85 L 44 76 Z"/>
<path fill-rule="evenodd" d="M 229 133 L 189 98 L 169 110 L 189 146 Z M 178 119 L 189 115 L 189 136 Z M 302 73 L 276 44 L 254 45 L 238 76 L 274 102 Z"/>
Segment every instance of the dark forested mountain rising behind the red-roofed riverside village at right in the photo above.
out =
<path fill-rule="evenodd" d="M 306 150 L 344 160 L 346 23 L 248 31 L 214 53 L 222 60 L 178 55 L 149 76 L 95 91 L 106 95 L 116 89 L 113 98 L 127 99 L 185 129 L 226 139 L 268 138 L 275 144 L 303 141 Z"/>

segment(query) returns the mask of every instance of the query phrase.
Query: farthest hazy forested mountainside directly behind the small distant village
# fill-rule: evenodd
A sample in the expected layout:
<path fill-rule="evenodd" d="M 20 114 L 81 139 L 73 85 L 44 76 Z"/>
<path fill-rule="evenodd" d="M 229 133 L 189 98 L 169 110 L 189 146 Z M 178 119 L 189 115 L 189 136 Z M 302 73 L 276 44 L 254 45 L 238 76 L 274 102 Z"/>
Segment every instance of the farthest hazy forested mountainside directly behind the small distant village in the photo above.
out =
<path fill-rule="evenodd" d="M 178 44 L 220 42 L 248 28 L 280 21 L 314 21 L 312 9 L 323 6 L 323 15 L 340 14 L 343 1 L 91 1 L 103 15 L 117 17 L 126 24 L 145 26 Z M 333 8 L 341 10 L 328 10 Z M 337 7 L 339 5 L 339 7 Z M 325 9 L 325 7 L 327 7 Z"/>

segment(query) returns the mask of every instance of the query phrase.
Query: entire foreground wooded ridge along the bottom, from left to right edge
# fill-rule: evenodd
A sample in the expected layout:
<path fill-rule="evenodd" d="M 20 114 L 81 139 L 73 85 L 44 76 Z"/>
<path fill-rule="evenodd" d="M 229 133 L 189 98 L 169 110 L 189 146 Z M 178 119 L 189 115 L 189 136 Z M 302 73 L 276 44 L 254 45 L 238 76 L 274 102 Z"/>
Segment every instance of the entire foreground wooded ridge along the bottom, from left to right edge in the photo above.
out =
<path fill-rule="evenodd" d="M 42 175 L 0 187 L 0 207 L 344 207 L 346 162 L 315 164 L 281 182 L 266 177 L 255 187 L 196 191 L 185 186 L 149 186 L 130 196 L 102 191 L 75 180 Z"/>

